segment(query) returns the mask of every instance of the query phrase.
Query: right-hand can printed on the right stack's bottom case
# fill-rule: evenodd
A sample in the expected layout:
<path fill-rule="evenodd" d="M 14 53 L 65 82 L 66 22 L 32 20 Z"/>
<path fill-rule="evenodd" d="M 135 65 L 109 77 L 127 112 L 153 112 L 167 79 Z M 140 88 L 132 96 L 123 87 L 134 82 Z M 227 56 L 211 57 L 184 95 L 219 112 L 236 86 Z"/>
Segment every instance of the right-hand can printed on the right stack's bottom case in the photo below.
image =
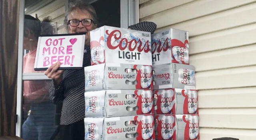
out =
<path fill-rule="evenodd" d="M 199 116 L 198 115 L 188 115 L 189 122 L 189 138 L 193 140 L 198 137 L 199 134 Z"/>

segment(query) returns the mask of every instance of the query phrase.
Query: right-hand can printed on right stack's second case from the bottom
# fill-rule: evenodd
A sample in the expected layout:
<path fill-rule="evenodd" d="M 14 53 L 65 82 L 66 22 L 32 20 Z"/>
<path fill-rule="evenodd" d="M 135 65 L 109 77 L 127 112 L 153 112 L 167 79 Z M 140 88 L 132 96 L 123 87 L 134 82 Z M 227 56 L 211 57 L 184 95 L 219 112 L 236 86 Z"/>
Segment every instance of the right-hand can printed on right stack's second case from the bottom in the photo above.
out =
<path fill-rule="evenodd" d="M 198 110 L 198 93 L 196 90 L 188 90 L 188 113 L 193 114 Z"/>

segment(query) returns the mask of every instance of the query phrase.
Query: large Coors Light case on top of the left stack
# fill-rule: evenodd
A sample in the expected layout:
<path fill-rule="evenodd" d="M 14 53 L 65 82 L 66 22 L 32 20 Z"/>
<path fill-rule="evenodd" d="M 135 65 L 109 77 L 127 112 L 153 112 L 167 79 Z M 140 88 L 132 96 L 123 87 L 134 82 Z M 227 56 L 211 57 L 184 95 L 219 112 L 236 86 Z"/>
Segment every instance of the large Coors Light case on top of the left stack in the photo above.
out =
<path fill-rule="evenodd" d="M 90 31 L 91 64 L 123 63 L 152 65 L 151 35 L 118 27 Z"/>

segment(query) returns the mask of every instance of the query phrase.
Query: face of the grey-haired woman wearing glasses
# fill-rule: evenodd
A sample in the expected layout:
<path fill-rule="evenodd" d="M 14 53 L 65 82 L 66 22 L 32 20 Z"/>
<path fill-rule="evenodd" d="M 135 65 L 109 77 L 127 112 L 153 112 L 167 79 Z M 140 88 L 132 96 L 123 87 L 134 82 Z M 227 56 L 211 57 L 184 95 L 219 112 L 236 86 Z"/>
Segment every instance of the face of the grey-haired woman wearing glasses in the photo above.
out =
<path fill-rule="evenodd" d="M 68 15 L 68 20 L 70 20 L 70 19 L 78 19 L 81 21 L 82 19 L 92 19 L 92 16 L 86 10 L 76 9 Z M 69 33 L 85 33 L 85 32 L 87 32 L 86 37 L 85 37 L 85 45 L 90 45 L 90 31 L 92 31 L 95 28 L 96 28 L 96 25 L 94 25 L 94 23 L 92 23 L 89 26 L 84 26 L 80 22 L 79 25 L 76 27 L 68 25 L 68 32 Z"/>

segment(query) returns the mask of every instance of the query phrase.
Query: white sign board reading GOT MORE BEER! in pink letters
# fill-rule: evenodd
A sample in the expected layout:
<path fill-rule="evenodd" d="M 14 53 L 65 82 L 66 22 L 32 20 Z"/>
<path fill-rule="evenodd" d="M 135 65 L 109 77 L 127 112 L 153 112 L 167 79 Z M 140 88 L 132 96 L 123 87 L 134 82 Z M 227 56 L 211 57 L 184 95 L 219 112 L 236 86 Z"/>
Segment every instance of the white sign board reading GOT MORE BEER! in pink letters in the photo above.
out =
<path fill-rule="evenodd" d="M 59 70 L 80 69 L 83 65 L 85 34 L 38 37 L 34 70 L 47 70 L 60 62 Z"/>

